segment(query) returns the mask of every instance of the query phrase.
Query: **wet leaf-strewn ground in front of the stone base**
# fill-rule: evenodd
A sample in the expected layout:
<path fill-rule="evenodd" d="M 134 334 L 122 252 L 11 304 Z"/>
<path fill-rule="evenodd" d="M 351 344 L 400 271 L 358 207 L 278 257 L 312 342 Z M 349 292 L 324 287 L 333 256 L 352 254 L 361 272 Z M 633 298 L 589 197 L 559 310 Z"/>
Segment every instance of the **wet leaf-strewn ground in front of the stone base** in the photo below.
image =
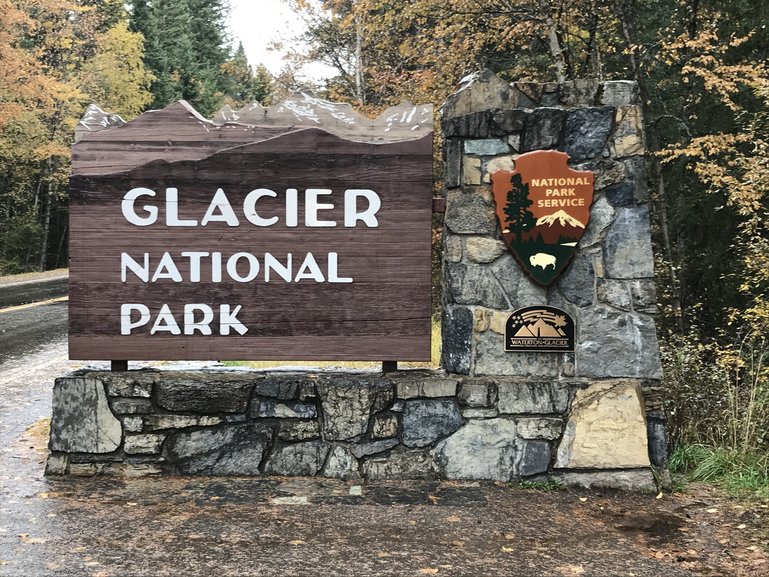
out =
<path fill-rule="evenodd" d="M 0 575 L 766 576 L 769 504 L 494 483 L 44 478 L 0 453 Z"/>

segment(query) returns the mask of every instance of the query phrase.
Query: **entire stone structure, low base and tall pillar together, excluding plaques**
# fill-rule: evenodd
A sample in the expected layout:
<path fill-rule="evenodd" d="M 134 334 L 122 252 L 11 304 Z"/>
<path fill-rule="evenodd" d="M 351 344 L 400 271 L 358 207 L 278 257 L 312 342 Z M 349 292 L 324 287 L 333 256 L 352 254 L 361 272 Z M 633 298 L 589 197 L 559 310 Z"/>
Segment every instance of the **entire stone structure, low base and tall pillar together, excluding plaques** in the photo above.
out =
<path fill-rule="evenodd" d="M 653 488 L 665 444 L 635 85 L 484 73 L 442 123 L 443 370 L 75 373 L 54 388 L 47 472 Z M 549 148 L 593 171 L 596 195 L 573 263 L 545 289 L 502 242 L 489 180 Z M 510 313 L 539 304 L 574 318 L 574 353 L 504 351 Z"/>

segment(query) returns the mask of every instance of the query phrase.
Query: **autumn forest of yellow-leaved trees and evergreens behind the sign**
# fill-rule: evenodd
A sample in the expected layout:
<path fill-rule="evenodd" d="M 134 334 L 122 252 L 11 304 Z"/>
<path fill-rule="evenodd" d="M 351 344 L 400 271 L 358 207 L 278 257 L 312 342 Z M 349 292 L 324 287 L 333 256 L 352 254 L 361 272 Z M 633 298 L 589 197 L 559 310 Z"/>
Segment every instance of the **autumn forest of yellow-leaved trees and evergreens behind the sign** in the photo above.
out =
<path fill-rule="evenodd" d="M 232 45 L 226 0 L 0 0 L 0 274 L 66 266 L 69 150 L 91 102 L 130 120 L 183 98 L 210 116 L 308 88 L 308 62 L 335 71 L 316 94 L 371 115 L 439 106 L 482 69 L 635 80 L 671 464 L 768 496 L 769 3 L 285 2 L 307 28 L 273 76 Z"/>

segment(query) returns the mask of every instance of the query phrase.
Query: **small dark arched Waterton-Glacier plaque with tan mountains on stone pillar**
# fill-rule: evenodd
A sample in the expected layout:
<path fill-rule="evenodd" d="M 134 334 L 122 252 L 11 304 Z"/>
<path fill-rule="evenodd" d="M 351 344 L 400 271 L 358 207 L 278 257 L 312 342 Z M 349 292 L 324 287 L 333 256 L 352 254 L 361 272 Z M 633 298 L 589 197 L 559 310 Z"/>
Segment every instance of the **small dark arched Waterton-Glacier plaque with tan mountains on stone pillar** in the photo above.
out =
<path fill-rule="evenodd" d="M 505 323 L 505 351 L 574 352 L 574 320 L 566 311 L 555 307 L 518 309 Z"/>

